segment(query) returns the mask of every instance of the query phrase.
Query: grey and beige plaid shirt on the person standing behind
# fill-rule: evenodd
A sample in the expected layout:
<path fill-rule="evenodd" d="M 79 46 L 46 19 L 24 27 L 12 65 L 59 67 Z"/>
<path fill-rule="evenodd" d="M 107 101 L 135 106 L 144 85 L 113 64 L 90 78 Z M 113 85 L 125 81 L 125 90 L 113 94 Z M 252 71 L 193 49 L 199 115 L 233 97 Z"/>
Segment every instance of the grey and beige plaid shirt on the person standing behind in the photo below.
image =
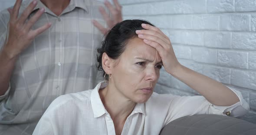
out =
<path fill-rule="evenodd" d="M 31 1 L 22 3 L 20 14 Z M 0 135 L 32 134 L 56 97 L 95 87 L 95 49 L 101 45 L 103 35 L 93 26 L 92 19 L 105 25 L 98 6 L 102 3 L 96 0 L 71 0 L 56 16 L 38 0 L 30 17 L 41 7 L 46 11 L 33 29 L 47 22 L 52 26 L 37 36 L 16 61 L 10 87 L 0 96 Z M 7 10 L 0 13 L 0 48 L 9 18 Z"/>

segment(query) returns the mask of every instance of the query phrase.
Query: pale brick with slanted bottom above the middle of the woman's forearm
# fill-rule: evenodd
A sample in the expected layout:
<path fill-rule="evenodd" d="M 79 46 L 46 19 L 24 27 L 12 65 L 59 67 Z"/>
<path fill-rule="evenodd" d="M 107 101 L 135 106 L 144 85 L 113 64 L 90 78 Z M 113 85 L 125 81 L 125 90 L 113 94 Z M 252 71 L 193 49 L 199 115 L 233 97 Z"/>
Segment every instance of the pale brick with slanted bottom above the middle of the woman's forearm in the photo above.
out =
<path fill-rule="evenodd" d="M 230 69 L 222 67 L 203 66 L 203 73 L 207 77 L 224 84 L 230 84 Z"/>

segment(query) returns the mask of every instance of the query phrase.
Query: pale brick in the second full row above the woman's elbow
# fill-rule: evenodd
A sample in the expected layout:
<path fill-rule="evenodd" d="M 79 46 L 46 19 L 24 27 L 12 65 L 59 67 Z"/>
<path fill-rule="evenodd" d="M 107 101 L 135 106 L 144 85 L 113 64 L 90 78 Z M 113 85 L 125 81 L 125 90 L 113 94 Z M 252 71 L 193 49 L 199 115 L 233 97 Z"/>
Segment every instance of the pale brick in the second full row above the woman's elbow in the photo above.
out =
<path fill-rule="evenodd" d="M 248 52 L 218 51 L 217 64 L 226 67 L 248 68 Z"/>

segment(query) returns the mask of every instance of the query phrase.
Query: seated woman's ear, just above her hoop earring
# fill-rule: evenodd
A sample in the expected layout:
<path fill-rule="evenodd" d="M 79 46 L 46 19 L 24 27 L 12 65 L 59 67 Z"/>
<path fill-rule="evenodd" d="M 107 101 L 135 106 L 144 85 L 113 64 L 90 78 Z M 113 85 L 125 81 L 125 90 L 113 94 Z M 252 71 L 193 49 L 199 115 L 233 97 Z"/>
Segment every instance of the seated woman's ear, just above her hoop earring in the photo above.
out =
<path fill-rule="evenodd" d="M 102 68 L 106 72 L 106 74 L 112 74 L 112 59 L 108 57 L 108 55 L 104 52 L 102 54 Z"/>

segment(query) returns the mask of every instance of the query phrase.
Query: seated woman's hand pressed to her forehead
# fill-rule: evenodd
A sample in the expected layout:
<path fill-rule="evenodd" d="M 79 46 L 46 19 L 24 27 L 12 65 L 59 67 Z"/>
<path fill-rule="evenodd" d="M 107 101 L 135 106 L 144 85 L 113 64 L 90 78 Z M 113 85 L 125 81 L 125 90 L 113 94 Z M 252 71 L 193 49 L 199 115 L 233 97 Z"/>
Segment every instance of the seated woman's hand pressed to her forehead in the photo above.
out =
<path fill-rule="evenodd" d="M 170 39 L 157 27 L 148 24 L 141 24 L 141 26 L 144 29 L 136 30 L 138 38 L 143 39 L 145 44 L 155 48 L 162 59 L 164 69 L 169 74 L 174 73 L 180 63 L 175 56 Z"/>

